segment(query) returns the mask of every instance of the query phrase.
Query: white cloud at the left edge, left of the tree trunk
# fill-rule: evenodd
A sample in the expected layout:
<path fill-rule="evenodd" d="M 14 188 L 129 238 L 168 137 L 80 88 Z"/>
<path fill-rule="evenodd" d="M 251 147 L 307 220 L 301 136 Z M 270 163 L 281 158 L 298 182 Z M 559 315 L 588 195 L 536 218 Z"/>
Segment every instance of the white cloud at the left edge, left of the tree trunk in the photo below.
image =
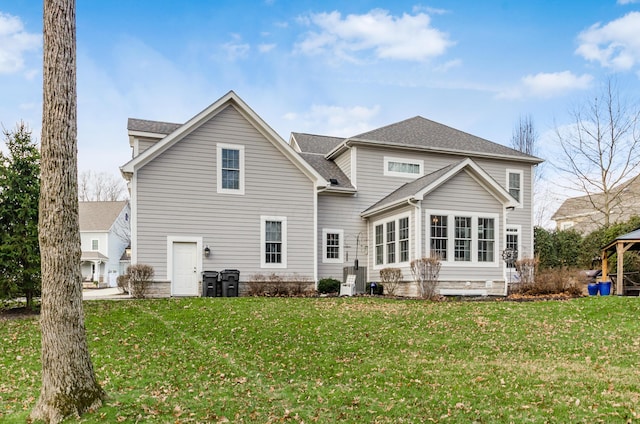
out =
<path fill-rule="evenodd" d="M 0 74 L 21 71 L 25 54 L 41 45 L 41 34 L 26 32 L 19 17 L 0 12 Z"/>

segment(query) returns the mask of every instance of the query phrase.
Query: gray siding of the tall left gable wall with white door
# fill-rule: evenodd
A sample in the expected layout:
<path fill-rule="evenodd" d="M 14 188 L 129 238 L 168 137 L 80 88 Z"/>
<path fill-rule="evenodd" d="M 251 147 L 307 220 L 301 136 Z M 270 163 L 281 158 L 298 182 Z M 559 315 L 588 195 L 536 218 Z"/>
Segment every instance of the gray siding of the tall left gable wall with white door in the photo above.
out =
<path fill-rule="evenodd" d="M 216 143 L 244 146 L 245 194 L 219 194 Z M 203 237 L 203 270 L 314 274 L 313 183 L 233 107 L 205 122 L 137 173 L 137 258 L 167 275 L 167 236 Z M 261 216 L 287 219 L 287 268 L 262 269 Z"/>

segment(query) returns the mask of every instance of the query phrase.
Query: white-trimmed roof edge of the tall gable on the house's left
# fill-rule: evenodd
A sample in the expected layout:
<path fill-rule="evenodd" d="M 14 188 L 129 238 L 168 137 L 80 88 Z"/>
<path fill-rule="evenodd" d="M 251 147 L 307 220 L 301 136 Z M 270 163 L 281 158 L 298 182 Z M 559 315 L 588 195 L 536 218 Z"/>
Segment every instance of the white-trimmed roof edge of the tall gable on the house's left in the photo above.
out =
<path fill-rule="evenodd" d="M 131 159 L 120 167 L 120 172 L 126 179 L 139 169 L 151 162 L 154 158 L 162 154 L 171 146 L 189 135 L 203 123 L 225 110 L 227 107 L 235 108 L 258 132 L 260 132 L 269 142 L 271 142 L 286 158 L 288 158 L 298 169 L 300 169 L 309 179 L 319 187 L 325 187 L 329 183 L 308 163 L 298 156 L 293 148 L 287 144 L 266 122 L 258 116 L 235 92 L 229 91 L 227 94 L 213 102 L 209 107 L 195 115 L 189 121 L 180 125 L 162 140 L 146 149 L 138 156 Z M 140 120 L 139 120 L 140 121 Z M 152 121 L 150 121 L 152 122 Z M 138 122 L 142 125 L 144 123 Z M 165 123 L 167 124 L 167 123 Z M 168 127 L 165 127 L 168 129 Z"/>

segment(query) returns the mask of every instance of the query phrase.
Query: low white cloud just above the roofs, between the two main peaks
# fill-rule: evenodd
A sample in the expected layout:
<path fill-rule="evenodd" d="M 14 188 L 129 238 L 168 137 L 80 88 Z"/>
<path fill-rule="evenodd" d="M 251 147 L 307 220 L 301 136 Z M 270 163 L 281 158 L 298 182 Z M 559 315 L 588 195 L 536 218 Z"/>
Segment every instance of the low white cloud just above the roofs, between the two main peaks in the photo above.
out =
<path fill-rule="evenodd" d="M 380 112 L 380 106 L 327 106 L 312 105 L 305 113 L 289 112 L 284 118 L 298 121 L 296 128 L 337 137 L 350 137 L 371 129 L 370 121 Z"/>

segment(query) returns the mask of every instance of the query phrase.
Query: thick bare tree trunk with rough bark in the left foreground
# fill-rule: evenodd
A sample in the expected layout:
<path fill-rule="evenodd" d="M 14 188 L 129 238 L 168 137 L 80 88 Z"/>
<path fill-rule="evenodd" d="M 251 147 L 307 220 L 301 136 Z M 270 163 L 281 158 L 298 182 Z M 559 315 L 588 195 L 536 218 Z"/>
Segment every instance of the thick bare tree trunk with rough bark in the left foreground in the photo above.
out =
<path fill-rule="evenodd" d="M 31 418 L 57 423 L 101 405 L 82 309 L 75 0 L 44 2 L 39 239 L 42 390 Z"/>

